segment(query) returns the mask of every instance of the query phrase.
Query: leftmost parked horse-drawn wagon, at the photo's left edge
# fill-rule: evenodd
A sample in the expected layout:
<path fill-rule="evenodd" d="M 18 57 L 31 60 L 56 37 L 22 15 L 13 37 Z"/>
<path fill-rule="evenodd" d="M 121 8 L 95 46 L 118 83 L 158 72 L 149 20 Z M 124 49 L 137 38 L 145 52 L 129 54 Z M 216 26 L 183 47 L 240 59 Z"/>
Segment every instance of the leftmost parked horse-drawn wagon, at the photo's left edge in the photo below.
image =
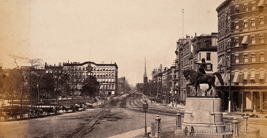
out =
<path fill-rule="evenodd" d="M 4 117 L 4 121 L 9 120 L 9 118 L 12 118 L 12 120 L 16 121 L 18 117 L 25 118 L 25 110 L 24 109 L 4 109 L 0 111 L 0 117 Z"/>

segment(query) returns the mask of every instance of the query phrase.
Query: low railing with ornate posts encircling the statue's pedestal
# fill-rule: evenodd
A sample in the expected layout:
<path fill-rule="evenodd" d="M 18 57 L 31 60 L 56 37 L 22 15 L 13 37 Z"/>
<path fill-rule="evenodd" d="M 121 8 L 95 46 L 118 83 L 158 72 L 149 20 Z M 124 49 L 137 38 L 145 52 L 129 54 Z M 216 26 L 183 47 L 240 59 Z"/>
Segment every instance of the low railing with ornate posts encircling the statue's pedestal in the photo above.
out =
<path fill-rule="evenodd" d="M 259 138 L 260 129 L 257 126 L 248 124 L 248 117 L 243 117 L 243 122 L 238 122 L 236 118 L 231 123 L 225 123 L 223 131 L 209 129 L 182 129 L 181 114 L 176 114 L 175 120 L 162 121 L 157 115 L 154 123 L 151 123 L 150 137 L 157 138 Z"/>

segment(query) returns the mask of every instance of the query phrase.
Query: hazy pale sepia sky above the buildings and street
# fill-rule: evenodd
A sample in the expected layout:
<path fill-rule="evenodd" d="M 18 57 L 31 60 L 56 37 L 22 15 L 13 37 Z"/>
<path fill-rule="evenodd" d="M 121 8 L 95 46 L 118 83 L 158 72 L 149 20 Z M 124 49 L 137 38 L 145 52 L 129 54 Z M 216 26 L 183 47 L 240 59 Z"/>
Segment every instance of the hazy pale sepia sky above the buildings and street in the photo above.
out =
<path fill-rule="evenodd" d="M 159 64 L 172 66 L 179 38 L 217 32 L 215 9 L 223 1 L 1 0 L 0 63 L 13 68 L 10 54 L 51 65 L 112 61 L 118 77 L 135 85 L 143 82 L 145 58 L 152 79 Z"/>

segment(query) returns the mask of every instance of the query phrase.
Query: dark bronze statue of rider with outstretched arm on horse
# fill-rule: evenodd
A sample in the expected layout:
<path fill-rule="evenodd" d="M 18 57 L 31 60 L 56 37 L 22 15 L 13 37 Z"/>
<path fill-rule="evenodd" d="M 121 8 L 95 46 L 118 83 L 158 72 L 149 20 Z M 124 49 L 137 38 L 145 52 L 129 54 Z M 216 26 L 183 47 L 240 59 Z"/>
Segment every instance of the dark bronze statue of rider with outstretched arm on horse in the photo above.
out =
<path fill-rule="evenodd" d="M 206 62 L 205 59 L 201 59 L 201 63 L 195 64 L 200 65 L 198 72 L 194 71 L 193 69 L 186 69 L 183 74 L 186 80 L 189 80 L 190 83 L 186 85 L 186 90 L 188 91 L 188 86 L 193 85 L 196 89 L 195 96 L 197 96 L 198 85 L 199 84 L 208 84 L 209 88 L 205 91 L 205 96 L 207 96 L 207 92 L 211 89 L 211 86 L 215 89 L 215 95 L 217 95 L 217 87 L 215 86 L 215 75 L 219 79 L 221 85 L 224 85 L 223 79 L 221 77 L 221 73 L 214 72 L 214 73 L 207 73 L 205 72 Z"/>

